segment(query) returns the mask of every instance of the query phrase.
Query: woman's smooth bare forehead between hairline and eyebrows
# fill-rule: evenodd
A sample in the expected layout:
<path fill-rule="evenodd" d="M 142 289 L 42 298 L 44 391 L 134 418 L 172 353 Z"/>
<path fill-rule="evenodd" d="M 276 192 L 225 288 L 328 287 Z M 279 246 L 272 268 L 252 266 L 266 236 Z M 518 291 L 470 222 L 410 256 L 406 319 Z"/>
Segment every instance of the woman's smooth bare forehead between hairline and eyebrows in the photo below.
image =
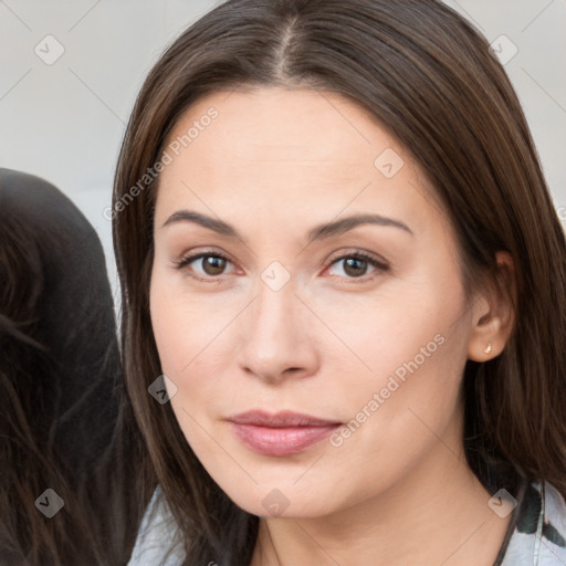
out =
<path fill-rule="evenodd" d="M 301 210 L 328 219 L 367 207 L 423 217 L 423 201 L 439 212 L 411 156 L 368 111 L 335 93 L 216 92 L 181 115 L 164 147 L 171 163 L 160 175 L 158 214 L 181 202 L 209 202 L 220 216 L 272 210 L 274 199 L 281 216 L 293 210 L 295 219 Z"/>

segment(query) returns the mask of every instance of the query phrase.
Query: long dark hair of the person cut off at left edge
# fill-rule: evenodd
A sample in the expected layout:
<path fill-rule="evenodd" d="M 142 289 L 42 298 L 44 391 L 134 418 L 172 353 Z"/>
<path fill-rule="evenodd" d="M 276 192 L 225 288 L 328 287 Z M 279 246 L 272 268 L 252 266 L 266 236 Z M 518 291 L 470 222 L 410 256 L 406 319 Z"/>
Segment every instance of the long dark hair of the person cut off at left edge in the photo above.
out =
<path fill-rule="evenodd" d="M 53 186 L 1 169 L 2 566 L 127 563 L 147 499 L 132 496 L 143 448 L 120 380 L 94 229 Z M 49 517 L 46 489 L 63 502 Z"/>

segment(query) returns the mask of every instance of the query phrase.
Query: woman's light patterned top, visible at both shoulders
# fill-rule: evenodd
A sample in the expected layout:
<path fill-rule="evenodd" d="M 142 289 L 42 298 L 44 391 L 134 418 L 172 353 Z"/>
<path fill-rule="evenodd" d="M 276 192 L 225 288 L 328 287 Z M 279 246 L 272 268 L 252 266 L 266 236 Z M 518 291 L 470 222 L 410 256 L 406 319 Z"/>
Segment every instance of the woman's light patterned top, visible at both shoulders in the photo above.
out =
<path fill-rule="evenodd" d="M 566 503 L 549 483 L 524 481 L 500 557 L 493 566 L 566 566 Z M 175 521 L 154 493 L 128 566 L 180 566 Z M 168 551 L 171 551 L 167 555 Z"/>

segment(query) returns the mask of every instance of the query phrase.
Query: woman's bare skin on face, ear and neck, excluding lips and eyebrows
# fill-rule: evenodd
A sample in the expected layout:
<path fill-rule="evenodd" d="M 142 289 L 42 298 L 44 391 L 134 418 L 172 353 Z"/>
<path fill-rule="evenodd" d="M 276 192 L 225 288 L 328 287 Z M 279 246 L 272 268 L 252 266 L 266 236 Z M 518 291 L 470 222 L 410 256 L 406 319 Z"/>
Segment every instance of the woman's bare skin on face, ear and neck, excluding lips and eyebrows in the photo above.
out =
<path fill-rule="evenodd" d="M 202 127 L 211 107 L 218 117 Z M 510 517 L 491 511 L 465 462 L 459 391 L 467 359 L 501 354 L 513 313 L 491 287 L 465 301 L 455 235 L 424 171 L 331 93 L 214 93 L 168 144 L 195 120 L 198 135 L 169 150 L 160 177 L 151 321 L 185 437 L 234 503 L 262 517 L 251 565 L 491 566 Z M 241 239 L 171 219 L 181 210 Z M 315 226 L 357 213 L 406 228 L 308 242 Z M 176 268 L 200 252 L 212 262 Z M 250 409 L 359 426 L 266 455 L 227 421 Z"/>

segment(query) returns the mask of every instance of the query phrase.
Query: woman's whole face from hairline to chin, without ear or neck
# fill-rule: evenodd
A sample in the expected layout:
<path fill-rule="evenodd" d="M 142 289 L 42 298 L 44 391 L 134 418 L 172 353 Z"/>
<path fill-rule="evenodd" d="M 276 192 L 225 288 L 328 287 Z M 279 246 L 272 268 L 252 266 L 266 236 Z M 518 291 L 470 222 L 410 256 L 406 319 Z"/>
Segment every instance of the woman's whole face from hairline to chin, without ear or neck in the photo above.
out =
<path fill-rule="evenodd" d="M 461 449 L 472 313 L 419 166 L 307 90 L 209 95 L 166 151 L 151 321 L 216 482 L 250 513 L 306 517 L 438 474 Z"/>

